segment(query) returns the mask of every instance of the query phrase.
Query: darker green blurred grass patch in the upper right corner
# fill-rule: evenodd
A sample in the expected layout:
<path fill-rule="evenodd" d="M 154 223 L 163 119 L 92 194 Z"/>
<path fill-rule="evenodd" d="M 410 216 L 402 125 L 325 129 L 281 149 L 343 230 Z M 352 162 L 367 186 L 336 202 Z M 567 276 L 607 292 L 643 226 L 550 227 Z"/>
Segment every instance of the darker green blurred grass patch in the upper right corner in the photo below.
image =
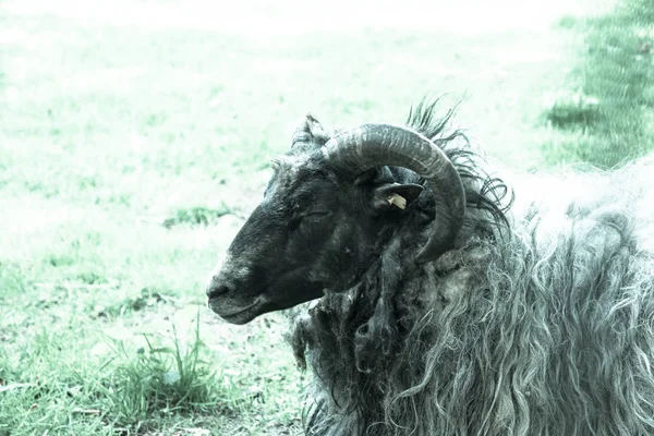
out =
<path fill-rule="evenodd" d="M 654 149 L 654 3 L 632 0 L 616 13 L 564 23 L 584 32 L 588 53 L 574 74 L 580 90 L 546 112 L 567 132 L 544 144 L 546 160 L 610 168 Z"/>

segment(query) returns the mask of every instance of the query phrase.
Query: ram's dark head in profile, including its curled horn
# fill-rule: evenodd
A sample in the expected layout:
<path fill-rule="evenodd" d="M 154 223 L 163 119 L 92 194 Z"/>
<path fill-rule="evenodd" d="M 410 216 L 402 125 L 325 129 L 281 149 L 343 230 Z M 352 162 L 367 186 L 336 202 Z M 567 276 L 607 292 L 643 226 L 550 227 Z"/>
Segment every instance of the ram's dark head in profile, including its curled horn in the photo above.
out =
<path fill-rule="evenodd" d="M 364 124 L 330 134 L 308 114 L 274 167 L 262 203 L 206 286 L 209 307 L 233 324 L 348 289 L 419 213 L 412 203 L 423 190 L 434 196 L 435 218 L 422 250 L 416 231 L 409 262 L 450 249 L 463 220 L 457 170 L 407 128 Z"/>

